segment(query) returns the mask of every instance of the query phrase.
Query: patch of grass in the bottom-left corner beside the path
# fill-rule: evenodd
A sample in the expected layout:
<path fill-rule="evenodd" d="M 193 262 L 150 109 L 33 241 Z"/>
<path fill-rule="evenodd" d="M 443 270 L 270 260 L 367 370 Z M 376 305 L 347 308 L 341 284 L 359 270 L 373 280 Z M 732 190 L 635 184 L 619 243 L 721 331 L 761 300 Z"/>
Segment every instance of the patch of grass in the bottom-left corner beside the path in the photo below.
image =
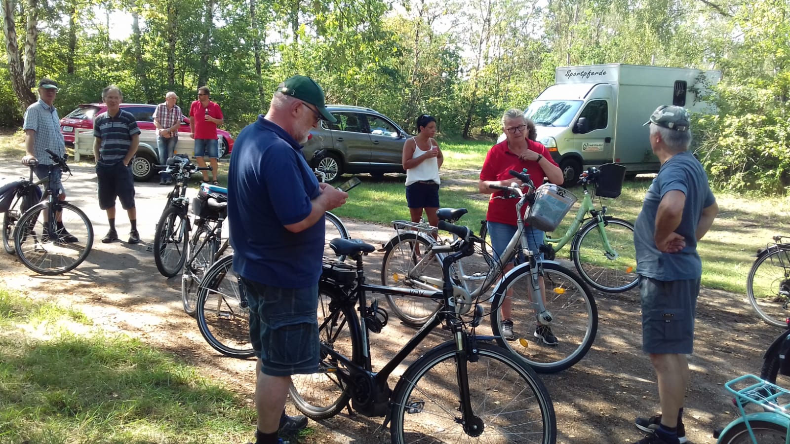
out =
<path fill-rule="evenodd" d="M 0 442 L 246 442 L 254 417 L 172 356 L 0 288 Z"/>

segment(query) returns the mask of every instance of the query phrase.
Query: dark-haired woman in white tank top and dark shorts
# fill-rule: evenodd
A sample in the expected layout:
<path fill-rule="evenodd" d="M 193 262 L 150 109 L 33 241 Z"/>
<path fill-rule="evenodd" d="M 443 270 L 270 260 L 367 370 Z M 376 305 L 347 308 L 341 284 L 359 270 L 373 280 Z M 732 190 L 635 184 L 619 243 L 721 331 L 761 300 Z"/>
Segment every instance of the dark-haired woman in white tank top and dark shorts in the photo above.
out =
<path fill-rule="evenodd" d="M 436 227 L 439 208 L 439 168 L 444 156 L 434 140 L 436 119 L 423 114 L 417 119 L 417 135 L 403 145 L 406 170 L 406 202 L 412 222 L 419 222 L 425 210 L 428 223 Z"/>

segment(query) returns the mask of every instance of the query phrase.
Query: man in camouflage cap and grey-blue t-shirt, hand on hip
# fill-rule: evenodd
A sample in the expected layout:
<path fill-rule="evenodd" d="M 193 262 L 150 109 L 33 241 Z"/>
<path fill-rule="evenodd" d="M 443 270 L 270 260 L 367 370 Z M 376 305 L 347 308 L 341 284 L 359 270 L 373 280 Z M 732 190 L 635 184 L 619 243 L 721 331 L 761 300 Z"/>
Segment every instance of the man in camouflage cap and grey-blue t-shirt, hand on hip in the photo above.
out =
<path fill-rule="evenodd" d="M 642 310 L 642 351 L 658 379 L 661 414 L 637 418 L 650 435 L 638 444 L 686 442 L 683 398 L 689 381 L 687 354 L 694 349 L 694 317 L 702 261 L 699 239 L 719 212 L 708 176 L 688 152 L 688 111 L 661 106 L 645 125 L 661 162 L 634 226 Z"/>

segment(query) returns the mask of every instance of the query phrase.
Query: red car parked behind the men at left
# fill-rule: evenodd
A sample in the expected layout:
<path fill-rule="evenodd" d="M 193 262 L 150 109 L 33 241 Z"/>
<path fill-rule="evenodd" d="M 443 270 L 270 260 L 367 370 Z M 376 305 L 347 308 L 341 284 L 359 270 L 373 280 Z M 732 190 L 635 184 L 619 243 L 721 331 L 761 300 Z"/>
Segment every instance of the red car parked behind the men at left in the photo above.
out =
<path fill-rule="evenodd" d="M 134 115 L 134 119 L 137 119 L 137 126 L 140 126 L 141 130 L 156 130 L 156 126 L 153 126 L 153 111 L 156 111 L 156 105 L 121 103 L 121 108 Z M 93 118 L 104 111 L 107 111 L 104 103 L 83 103 L 66 115 L 66 117 L 60 119 L 60 132 L 63 134 L 63 139 L 66 140 L 66 145 L 74 145 L 74 131 L 76 128 L 92 130 Z M 183 112 L 184 109 L 181 108 L 181 111 Z M 228 131 L 216 131 L 222 136 L 222 143 L 220 143 L 219 149 L 220 157 L 223 157 L 233 150 L 233 137 Z M 183 133 L 181 137 L 189 137 L 191 132 L 190 119 L 185 116 L 181 128 L 179 128 L 179 133 Z"/>

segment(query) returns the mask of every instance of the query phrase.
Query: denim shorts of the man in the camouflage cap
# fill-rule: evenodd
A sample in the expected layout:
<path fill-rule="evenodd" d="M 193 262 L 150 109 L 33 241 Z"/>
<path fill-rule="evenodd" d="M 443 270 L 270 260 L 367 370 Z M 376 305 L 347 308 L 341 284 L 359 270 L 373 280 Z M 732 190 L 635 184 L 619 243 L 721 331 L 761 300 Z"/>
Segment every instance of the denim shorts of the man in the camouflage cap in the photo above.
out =
<path fill-rule="evenodd" d="M 639 277 L 643 352 L 694 352 L 694 319 L 699 282 L 699 279 L 656 280 Z"/>

